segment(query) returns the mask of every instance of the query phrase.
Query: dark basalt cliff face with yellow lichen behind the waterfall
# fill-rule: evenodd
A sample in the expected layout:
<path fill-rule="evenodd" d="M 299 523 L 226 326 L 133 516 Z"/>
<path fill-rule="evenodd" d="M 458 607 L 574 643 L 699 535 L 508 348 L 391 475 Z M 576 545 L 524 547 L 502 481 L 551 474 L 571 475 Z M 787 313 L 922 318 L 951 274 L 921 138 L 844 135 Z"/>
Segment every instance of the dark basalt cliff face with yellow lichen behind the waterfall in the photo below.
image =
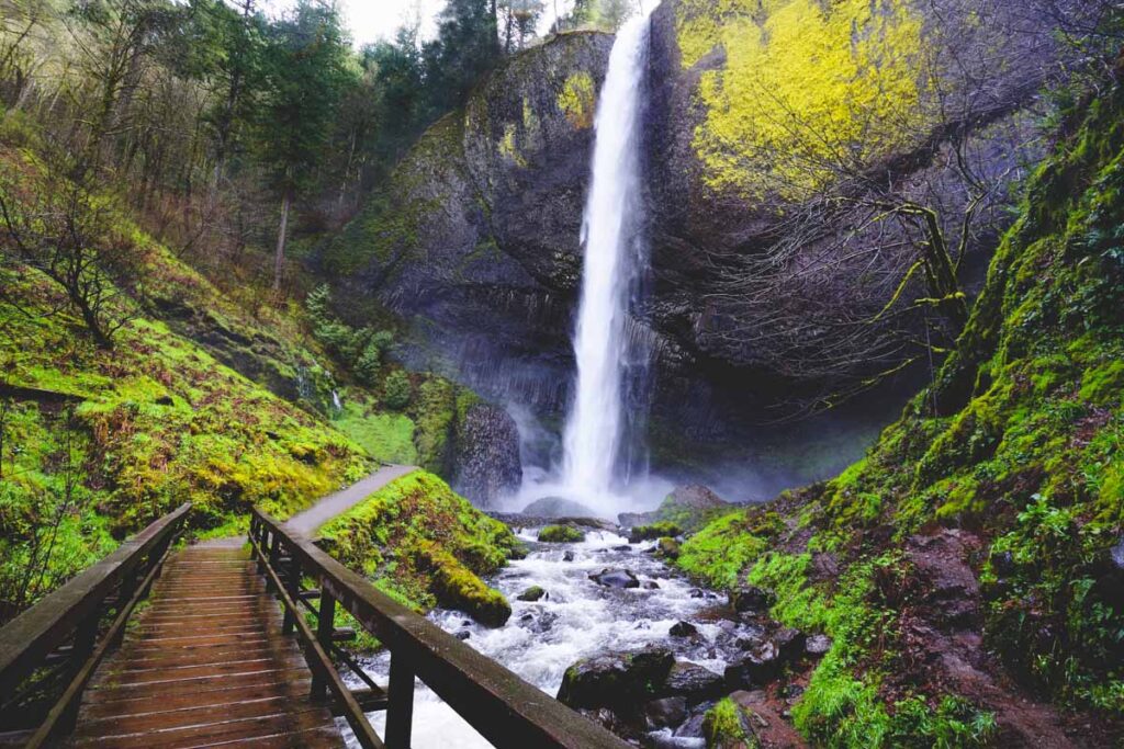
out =
<path fill-rule="evenodd" d="M 756 345 L 753 331 L 768 312 L 758 320 L 723 301 L 736 296 L 722 293 L 731 268 L 764 252 L 786 230 L 778 207 L 788 212 L 804 204 L 798 191 L 769 182 L 769 174 L 779 170 L 772 170 L 762 153 L 799 149 L 778 148 L 776 134 L 762 135 L 764 126 L 752 115 L 765 98 L 738 88 L 746 77 L 742 71 L 798 71 L 785 82 L 785 92 L 799 93 L 801 86 L 841 77 L 819 75 L 814 63 L 807 63 L 813 65 L 807 71 L 799 67 L 797 63 L 817 57 L 799 45 L 810 39 L 831 46 L 833 35 L 844 34 L 844 42 L 854 35 L 855 44 L 889 45 L 859 51 L 855 57 L 891 57 L 897 67 L 878 75 L 890 76 L 895 91 L 908 94 L 916 93 L 921 72 L 903 68 L 901 61 L 917 51 L 955 43 L 969 45 L 970 52 L 971 44 L 995 42 L 979 31 L 959 34 L 973 22 L 966 16 L 971 3 L 951 0 L 939 0 L 935 10 L 926 10 L 925 3 L 907 8 L 899 0 L 888 1 L 881 15 L 859 0 L 833 3 L 830 13 L 822 13 L 826 6 L 815 0 L 769 4 L 772 10 L 765 12 L 756 0 L 669 0 L 652 18 L 644 144 L 651 185 L 651 296 L 631 332 L 653 344 L 653 418 L 669 427 L 659 433 L 681 447 L 743 436 L 749 424 L 773 413 L 782 394 L 790 398 L 831 384 L 783 363 L 789 354 L 814 357 L 817 347 L 835 341 L 809 330 L 788 342 Z M 1016 0 L 990 0 L 994 12 L 988 18 L 1005 19 L 1019 6 Z M 815 22 L 792 36 L 783 22 L 791 17 Z M 779 39 L 774 46 L 761 42 L 771 37 Z M 1007 38 L 1037 37 L 1010 34 L 1000 40 Z M 417 342 L 404 354 L 407 363 L 414 358 L 432 364 L 436 356 L 450 374 L 489 398 L 510 398 L 549 415 L 564 408 L 573 367 L 570 334 L 593 112 L 611 43 L 604 34 L 571 33 L 514 56 L 478 88 L 464 111 L 433 126 L 384 189 L 321 253 L 324 268 L 348 278 L 353 291 L 373 294 L 414 321 Z M 850 43 L 836 46 L 846 49 Z M 1012 52 L 1006 46 L 987 48 L 989 55 Z M 989 172 L 1001 174 L 1008 162 L 1019 159 L 1017 149 L 999 147 L 1017 136 L 1010 110 L 1030 100 L 1032 83 L 1058 57 L 1049 45 L 1033 52 L 1027 58 L 1035 65 L 1009 65 L 1008 77 L 991 86 L 996 107 L 984 118 L 991 129 L 981 131 L 976 144 Z M 796 66 L 785 67 L 788 63 Z M 865 80 L 854 77 L 854 85 Z M 879 83 L 885 81 L 873 82 Z M 849 102 L 862 98 L 856 93 L 862 92 L 817 92 L 809 98 L 808 116 L 834 112 L 833 104 L 846 111 Z M 901 100 L 910 101 L 905 94 Z M 1003 109 L 999 101 L 1016 103 Z M 882 115 L 885 121 L 896 121 L 892 112 Z M 945 180 L 952 170 L 940 158 L 914 157 L 917 144 L 908 138 L 899 143 L 895 135 L 861 138 L 858 167 L 890 170 L 899 182 L 925 184 L 941 200 L 952 201 L 955 213 L 963 191 Z M 840 137 L 845 136 L 844 127 Z M 1000 188 L 994 194 L 1003 192 Z M 981 239 L 968 248 L 966 267 L 982 264 L 996 230 L 1007 220 L 1000 210 L 985 213 L 972 235 Z M 845 232 L 853 227 L 837 228 Z M 827 239 L 807 243 L 808 257 L 823 253 Z M 771 311 L 800 303 L 808 294 L 799 292 L 785 285 L 765 289 L 762 307 Z M 832 303 L 841 314 L 865 313 L 846 287 Z M 841 462 L 861 447 L 852 439 Z M 669 447 L 656 450 L 655 458 L 674 463 L 688 456 Z M 791 484 L 807 476 L 788 477 Z"/>

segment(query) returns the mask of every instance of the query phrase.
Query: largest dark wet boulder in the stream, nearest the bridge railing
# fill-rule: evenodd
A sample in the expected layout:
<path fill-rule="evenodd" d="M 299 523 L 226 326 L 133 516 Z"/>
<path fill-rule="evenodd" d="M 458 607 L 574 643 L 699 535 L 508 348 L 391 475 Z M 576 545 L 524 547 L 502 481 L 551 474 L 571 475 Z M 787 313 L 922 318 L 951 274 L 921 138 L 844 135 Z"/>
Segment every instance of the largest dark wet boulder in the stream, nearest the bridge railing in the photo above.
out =
<path fill-rule="evenodd" d="M 570 707 L 588 709 L 635 703 L 644 695 L 655 696 L 653 685 L 663 684 L 674 663 L 671 650 L 660 646 L 583 658 L 566 668 L 558 698 Z"/>

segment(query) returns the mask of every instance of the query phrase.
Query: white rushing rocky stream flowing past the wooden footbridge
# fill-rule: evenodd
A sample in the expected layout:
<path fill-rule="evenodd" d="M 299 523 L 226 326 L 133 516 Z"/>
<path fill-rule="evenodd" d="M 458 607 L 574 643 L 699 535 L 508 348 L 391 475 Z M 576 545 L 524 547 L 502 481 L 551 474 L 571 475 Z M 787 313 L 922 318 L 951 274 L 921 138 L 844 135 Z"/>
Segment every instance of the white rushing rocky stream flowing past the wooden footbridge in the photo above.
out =
<path fill-rule="evenodd" d="M 540 542 L 538 527 L 516 530 L 528 555 L 488 581 L 511 602 L 507 623 L 487 628 L 443 609 L 434 622 L 640 746 L 706 746 L 705 713 L 731 693 L 790 730 L 779 714 L 828 643 L 769 621 L 767 593 L 727 600 L 697 587 L 660 558 L 658 541 L 629 542 L 627 529 L 587 530 L 571 544 Z M 364 663 L 380 683 L 389 665 L 388 654 Z M 371 718 L 381 731 L 384 714 Z M 414 746 L 491 745 L 419 683 Z"/>

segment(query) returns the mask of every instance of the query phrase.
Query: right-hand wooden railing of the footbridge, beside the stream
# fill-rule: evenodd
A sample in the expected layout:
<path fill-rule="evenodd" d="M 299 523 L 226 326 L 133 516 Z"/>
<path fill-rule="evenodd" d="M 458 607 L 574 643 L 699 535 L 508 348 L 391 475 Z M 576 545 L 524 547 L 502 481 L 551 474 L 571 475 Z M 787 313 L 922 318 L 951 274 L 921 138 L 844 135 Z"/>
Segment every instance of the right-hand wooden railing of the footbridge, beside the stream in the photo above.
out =
<path fill-rule="evenodd" d="M 360 745 L 408 749 L 414 714 L 414 679 L 420 678 L 461 718 L 500 749 L 566 747 L 623 749 L 628 745 L 573 712 L 507 668 L 477 652 L 439 627 L 379 592 L 297 531 L 254 510 L 250 540 L 268 584 L 284 606 L 287 632 L 296 630 L 312 670 L 312 696 L 330 692 Z M 302 581 L 312 582 L 311 590 Z M 318 600 L 314 606 L 310 601 Z M 305 605 L 316 615 L 316 632 L 305 621 Z M 336 645 L 336 606 L 342 606 L 390 650 L 390 684 L 383 691 L 351 692 L 329 654 Z M 366 679 L 354 661 L 348 666 Z M 365 702 L 366 705 L 361 705 Z M 387 710 L 386 743 L 364 709 Z"/>

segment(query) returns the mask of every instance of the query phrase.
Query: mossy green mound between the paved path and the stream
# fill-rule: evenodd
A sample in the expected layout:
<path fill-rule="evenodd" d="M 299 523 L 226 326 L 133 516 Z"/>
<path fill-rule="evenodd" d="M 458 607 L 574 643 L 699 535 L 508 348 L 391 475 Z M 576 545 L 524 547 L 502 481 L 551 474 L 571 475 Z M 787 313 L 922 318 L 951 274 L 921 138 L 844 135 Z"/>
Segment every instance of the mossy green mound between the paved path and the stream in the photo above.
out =
<path fill-rule="evenodd" d="M 480 576 L 518 555 L 520 542 L 433 474 L 419 471 L 391 482 L 320 536 L 334 557 L 417 611 L 439 604 L 489 625 L 511 613 Z"/>

